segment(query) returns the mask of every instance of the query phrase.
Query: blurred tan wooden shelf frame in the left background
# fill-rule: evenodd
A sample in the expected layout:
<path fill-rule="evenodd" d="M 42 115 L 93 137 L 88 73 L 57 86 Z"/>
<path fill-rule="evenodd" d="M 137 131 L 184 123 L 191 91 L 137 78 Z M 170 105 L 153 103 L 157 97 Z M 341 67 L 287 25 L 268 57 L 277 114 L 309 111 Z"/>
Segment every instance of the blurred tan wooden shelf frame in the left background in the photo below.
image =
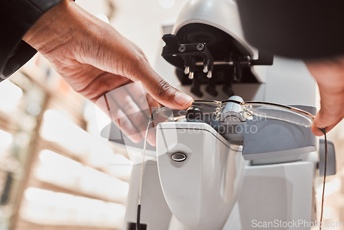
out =
<path fill-rule="evenodd" d="M 121 180 L 123 182 L 128 182 L 127 178 L 121 178 L 120 176 L 117 177 L 111 175 L 109 173 L 109 167 L 107 166 L 96 167 L 95 165 L 92 165 L 92 163 L 89 162 L 88 152 L 76 154 L 70 151 L 69 149 L 66 149 L 62 145 L 59 145 L 58 143 L 50 142 L 41 138 L 40 129 L 42 125 L 43 114 L 47 109 L 54 109 L 58 111 L 67 112 L 69 118 L 78 127 L 84 130 L 86 130 L 87 128 L 87 122 L 83 117 L 83 109 L 87 99 L 85 99 L 82 95 L 78 94 L 77 92 L 74 92 L 69 86 L 65 85 L 63 80 L 56 77 L 56 74 L 52 74 L 52 76 L 49 76 L 48 78 L 46 76 L 47 72 L 49 72 L 47 71 L 47 68 L 48 67 L 43 67 L 41 69 L 41 67 L 35 67 L 32 65 L 24 66 L 21 68 L 21 70 L 19 70 L 19 72 L 14 74 L 14 76 L 12 76 L 11 78 L 11 81 L 14 84 L 18 85 L 23 89 L 24 99 L 26 99 L 25 96 L 27 96 L 28 93 L 33 92 L 34 90 L 37 90 L 39 95 L 43 94 L 43 96 L 45 96 L 45 99 L 42 101 L 41 113 L 39 114 L 39 116 L 34 117 L 36 118 L 37 124 L 34 130 L 32 130 L 32 134 L 30 133 L 30 135 L 32 135 L 32 140 L 30 142 L 30 145 L 27 148 L 25 148 L 27 154 L 23 155 L 26 156 L 25 163 L 21 167 L 23 171 L 23 174 L 21 174 L 21 176 L 23 178 L 20 178 L 20 186 L 17 185 L 17 187 L 20 188 L 17 189 L 16 187 L 17 194 L 15 195 L 13 201 L 13 205 L 16 208 L 14 210 L 14 215 L 11 217 L 10 220 L 10 230 L 114 230 L 116 228 L 36 224 L 28 220 L 23 220 L 23 218 L 21 218 L 21 216 L 19 215 L 19 207 L 23 199 L 23 194 L 25 192 L 25 189 L 27 189 L 28 187 L 36 187 L 39 189 L 55 191 L 63 194 L 71 194 L 74 196 L 102 200 L 105 202 L 113 202 L 118 203 L 120 205 L 125 205 L 126 202 L 126 199 L 123 197 L 118 196 L 118 198 L 112 198 L 111 196 L 109 196 L 108 198 L 105 198 L 98 194 L 92 195 L 87 194 L 84 191 L 78 191 L 77 187 L 76 189 L 73 187 L 62 187 L 60 185 L 54 184 L 53 182 L 43 182 L 36 178 L 34 172 L 37 165 L 39 165 L 39 152 L 43 149 L 48 149 L 56 152 L 56 154 L 61 154 L 61 156 L 65 156 L 67 158 L 75 160 L 76 162 L 82 164 L 84 167 L 96 169 L 97 171 L 101 171 L 113 178 L 117 178 L 118 180 Z M 55 77 L 56 79 L 54 79 Z M 50 84 L 53 82 L 52 80 L 56 81 L 57 86 L 54 84 Z M 19 109 L 23 109 L 23 106 L 21 106 L 21 108 Z M 21 112 L 24 111 L 22 110 Z M 4 131 L 10 133 L 17 132 L 18 124 L 15 116 L 10 116 L 6 113 L 0 112 L 0 129 L 3 129 Z M 114 150 L 114 154 L 121 154 L 122 156 L 128 158 L 127 151 L 125 148 L 118 147 L 111 143 L 109 143 L 109 146 Z M 56 171 L 56 174 L 58 174 L 58 171 Z"/>

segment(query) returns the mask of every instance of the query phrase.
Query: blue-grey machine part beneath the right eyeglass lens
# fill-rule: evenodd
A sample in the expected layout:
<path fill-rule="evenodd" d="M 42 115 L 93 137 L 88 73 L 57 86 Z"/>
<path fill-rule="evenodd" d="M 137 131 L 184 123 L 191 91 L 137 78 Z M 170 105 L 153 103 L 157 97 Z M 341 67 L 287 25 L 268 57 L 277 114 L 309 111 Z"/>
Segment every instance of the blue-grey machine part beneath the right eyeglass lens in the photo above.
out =
<path fill-rule="evenodd" d="M 316 108 L 311 106 L 292 107 L 312 114 L 316 112 Z M 252 120 L 246 119 L 241 125 L 234 124 L 217 123 L 213 127 L 230 143 L 243 145 L 242 154 L 245 160 L 278 158 L 316 151 L 316 137 L 310 127 L 259 116 Z"/>

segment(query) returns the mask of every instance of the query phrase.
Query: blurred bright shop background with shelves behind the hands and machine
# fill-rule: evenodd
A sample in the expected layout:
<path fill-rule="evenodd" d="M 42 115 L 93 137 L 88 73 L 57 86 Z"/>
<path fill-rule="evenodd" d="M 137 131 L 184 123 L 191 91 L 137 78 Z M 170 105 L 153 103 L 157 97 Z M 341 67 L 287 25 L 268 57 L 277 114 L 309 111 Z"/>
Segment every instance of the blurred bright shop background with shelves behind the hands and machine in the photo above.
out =
<path fill-rule="evenodd" d="M 185 3 L 76 2 L 105 14 L 152 65 L 161 53 L 162 25 L 173 24 Z M 100 137 L 95 111 L 39 54 L 0 83 L 0 230 L 121 229 L 131 163 L 125 148 Z M 344 220 L 343 131 L 342 121 L 328 135 L 337 174 L 327 178 L 324 220 Z"/>

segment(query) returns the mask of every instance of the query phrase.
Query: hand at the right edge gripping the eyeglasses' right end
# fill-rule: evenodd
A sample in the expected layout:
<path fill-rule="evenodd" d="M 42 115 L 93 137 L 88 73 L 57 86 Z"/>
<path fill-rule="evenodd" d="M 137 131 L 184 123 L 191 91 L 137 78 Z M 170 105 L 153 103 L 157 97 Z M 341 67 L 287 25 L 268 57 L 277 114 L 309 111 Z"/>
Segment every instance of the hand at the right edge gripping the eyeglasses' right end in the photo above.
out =
<path fill-rule="evenodd" d="M 344 56 L 306 62 L 319 85 L 321 109 L 314 118 L 312 132 L 323 136 L 319 128 L 329 132 L 344 117 Z"/>

